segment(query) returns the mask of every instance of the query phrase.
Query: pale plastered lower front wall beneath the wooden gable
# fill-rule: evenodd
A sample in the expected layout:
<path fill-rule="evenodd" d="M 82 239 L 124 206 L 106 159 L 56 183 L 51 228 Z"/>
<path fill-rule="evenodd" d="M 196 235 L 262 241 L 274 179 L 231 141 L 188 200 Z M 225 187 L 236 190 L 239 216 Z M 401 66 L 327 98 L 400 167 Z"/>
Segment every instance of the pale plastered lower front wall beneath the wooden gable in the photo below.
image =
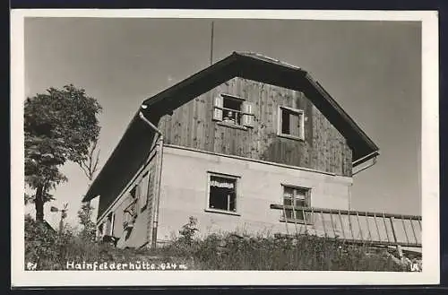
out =
<path fill-rule="evenodd" d="M 237 213 L 206 212 L 208 171 L 239 177 Z M 253 234 L 285 233 L 280 210 L 281 184 L 310 187 L 313 207 L 349 209 L 352 178 L 234 159 L 228 156 L 165 147 L 159 201 L 158 240 L 178 234 L 189 216 L 198 220 L 200 234 L 239 231 Z M 289 224 L 289 231 L 294 225 Z"/>

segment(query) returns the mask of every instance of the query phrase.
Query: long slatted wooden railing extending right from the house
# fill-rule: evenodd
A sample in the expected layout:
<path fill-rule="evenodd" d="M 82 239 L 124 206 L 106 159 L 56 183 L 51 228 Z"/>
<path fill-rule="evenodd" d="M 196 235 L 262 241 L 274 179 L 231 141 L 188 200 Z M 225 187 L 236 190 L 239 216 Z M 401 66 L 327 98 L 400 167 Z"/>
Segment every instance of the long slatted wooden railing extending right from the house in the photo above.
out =
<path fill-rule="evenodd" d="M 402 255 L 401 247 L 422 247 L 422 219 L 418 215 L 283 204 L 271 204 L 271 209 L 283 212 L 281 221 L 285 222 L 287 234 L 314 233 L 318 236 L 343 239 L 350 243 L 395 246 L 400 255 Z M 291 215 L 293 218 L 284 218 Z M 294 218 L 296 216 L 305 218 Z"/>

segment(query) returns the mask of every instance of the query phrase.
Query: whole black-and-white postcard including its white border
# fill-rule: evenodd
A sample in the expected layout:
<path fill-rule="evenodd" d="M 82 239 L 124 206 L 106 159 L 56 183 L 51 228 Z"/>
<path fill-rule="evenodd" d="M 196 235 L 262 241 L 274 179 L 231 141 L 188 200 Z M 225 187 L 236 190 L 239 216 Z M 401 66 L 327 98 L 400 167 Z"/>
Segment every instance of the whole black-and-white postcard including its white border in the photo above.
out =
<path fill-rule="evenodd" d="M 13 286 L 438 282 L 437 38 L 435 12 L 13 11 Z"/>

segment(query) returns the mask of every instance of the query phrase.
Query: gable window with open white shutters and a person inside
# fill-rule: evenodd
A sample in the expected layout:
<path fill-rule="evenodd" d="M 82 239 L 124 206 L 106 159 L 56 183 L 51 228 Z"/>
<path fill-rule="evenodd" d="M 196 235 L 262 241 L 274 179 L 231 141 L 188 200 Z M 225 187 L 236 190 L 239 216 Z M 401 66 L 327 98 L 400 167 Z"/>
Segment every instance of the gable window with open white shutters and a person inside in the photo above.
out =
<path fill-rule="evenodd" d="M 254 107 L 237 96 L 221 94 L 214 99 L 213 120 L 227 126 L 254 126 Z"/>

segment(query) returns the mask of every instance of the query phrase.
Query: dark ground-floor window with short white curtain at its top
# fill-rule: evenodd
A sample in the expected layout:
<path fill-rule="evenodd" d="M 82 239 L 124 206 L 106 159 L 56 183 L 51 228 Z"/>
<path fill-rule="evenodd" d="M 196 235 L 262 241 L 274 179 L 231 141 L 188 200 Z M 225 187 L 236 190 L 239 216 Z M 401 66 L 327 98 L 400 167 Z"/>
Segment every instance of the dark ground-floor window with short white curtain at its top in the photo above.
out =
<path fill-rule="evenodd" d="M 230 213 L 237 212 L 237 177 L 209 175 L 208 208 Z"/>

